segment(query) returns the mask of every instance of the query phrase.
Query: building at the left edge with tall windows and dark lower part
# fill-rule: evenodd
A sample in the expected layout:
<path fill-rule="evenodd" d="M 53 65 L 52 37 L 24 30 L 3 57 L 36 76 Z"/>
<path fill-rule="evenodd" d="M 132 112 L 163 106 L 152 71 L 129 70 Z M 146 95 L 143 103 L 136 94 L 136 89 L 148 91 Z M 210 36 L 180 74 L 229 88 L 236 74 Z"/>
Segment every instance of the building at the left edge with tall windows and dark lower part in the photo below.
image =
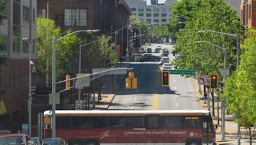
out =
<path fill-rule="evenodd" d="M 6 20 L 0 25 L 0 55 L 7 58 L 1 65 L 0 130 L 17 132 L 21 123 L 28 123 L 29 52 L 36 60 L 36 1 L 5 0 Z M 22 38 L 28 41 L 22 41 Z M 29 43 L 31 51 L 29 51 Z M 32 72 L 31 84 L 35 83 Z"/>

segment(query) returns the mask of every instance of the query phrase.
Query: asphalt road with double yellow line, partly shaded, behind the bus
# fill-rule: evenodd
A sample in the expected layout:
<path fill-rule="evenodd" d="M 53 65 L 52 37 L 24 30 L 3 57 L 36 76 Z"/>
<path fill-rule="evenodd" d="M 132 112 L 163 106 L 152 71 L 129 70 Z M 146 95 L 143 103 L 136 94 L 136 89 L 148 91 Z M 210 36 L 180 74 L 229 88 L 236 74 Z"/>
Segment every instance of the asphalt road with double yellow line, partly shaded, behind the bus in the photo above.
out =
<path fill-rule="evenodd" d="M 152 44 L 156 48 L 159 44 Z M 171 52 L 172 46 L 161 45 Z M 160 55 L 160 53 L 152 53 Z M 171 61 L 173 56 L 169 56 Z M 170 74 L 169 86 L 161 86 L 160 62 L 132 62 L 135 77 L 138 79 L 138 89 L 125 89 L 125 82 L 116 93 L 109 109 L 200 109 L 196 101 L 195 88 L 180 75 Z"/>

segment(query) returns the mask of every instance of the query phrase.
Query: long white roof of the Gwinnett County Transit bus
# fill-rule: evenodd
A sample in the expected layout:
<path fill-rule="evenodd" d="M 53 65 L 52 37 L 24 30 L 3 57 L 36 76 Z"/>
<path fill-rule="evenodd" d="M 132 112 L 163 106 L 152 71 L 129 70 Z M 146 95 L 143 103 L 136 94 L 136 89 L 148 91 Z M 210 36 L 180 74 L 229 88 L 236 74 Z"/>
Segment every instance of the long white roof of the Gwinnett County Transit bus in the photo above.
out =
<path fill-rule="evenodd" d="M 51 116 L 51 110 L 44 111 L 44 116 Z M 56 116 L 146 116 L 159 115 L 209 115 L 207 110 L 56 110 Z"/>

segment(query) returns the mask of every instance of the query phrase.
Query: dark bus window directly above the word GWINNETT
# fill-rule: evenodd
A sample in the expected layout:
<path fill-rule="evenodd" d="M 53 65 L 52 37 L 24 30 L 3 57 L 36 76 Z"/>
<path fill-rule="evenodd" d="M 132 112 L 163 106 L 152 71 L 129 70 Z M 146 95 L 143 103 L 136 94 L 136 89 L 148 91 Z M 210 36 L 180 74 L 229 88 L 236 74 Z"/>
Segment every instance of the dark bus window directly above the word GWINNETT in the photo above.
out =
<path fill-rule="evenodd" d="M 126 117 L 127 128 L 145 128 L 144 116 L 127 116 Z"/>

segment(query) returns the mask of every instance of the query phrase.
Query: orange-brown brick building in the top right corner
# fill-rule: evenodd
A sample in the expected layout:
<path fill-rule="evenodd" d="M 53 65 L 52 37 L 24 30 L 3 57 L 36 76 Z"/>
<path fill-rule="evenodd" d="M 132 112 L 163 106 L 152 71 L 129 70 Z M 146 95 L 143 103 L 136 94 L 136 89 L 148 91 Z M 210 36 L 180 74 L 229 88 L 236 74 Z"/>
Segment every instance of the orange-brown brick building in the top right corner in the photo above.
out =
<path fill-rule="evenodd" d="M 256 27 L 256 0 L 242 0 L 240 6 L 240 21 L 248 30 Z"/>

